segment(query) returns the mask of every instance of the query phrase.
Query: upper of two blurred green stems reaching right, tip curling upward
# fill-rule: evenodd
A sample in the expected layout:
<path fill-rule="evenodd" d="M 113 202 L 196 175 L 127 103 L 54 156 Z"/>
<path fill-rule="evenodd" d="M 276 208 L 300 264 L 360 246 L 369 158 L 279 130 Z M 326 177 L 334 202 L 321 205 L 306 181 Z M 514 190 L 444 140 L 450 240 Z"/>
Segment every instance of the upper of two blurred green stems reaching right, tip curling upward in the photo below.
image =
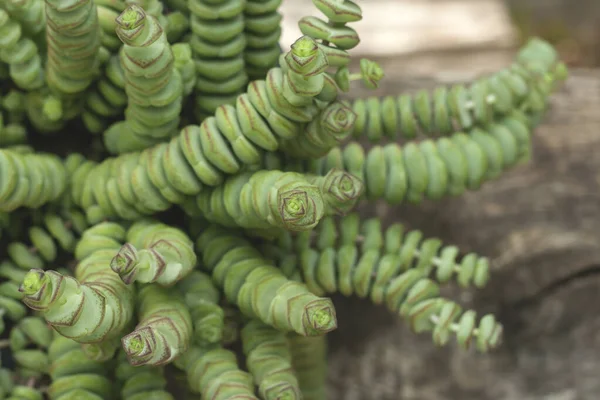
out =
<path fill-rule="evenodd" d="M 565 66 L 556 51 L 548 43 L 532 39 L 511 66 L 468 86 L 440 86 L 414 95 L 353 101 L 353 136 L 379 142 L 384 137 L 414 139 L 418 134 L 450 135 L 475 126 L 485 129 L 515 110 L 540 113 L 552 90 L 564 79 Z"/>

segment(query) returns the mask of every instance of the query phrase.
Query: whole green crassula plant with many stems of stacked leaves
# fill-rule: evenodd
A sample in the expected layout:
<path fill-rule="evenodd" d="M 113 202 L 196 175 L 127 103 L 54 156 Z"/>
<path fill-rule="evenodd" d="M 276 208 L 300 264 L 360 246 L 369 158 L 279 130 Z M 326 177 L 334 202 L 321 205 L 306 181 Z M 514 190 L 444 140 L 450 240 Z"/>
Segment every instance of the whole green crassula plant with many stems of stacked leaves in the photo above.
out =
<path fill-rule="evenodd" d="M 333 293 L 500 344 L 440 293 L 485 257 L 353 209 L 526 162 L 565 66 L 532 39 L 470 84 L 356 98 L 385 79 L 352 63 L 361 7 L 313 0 L 282 52 L 281 2 L 0 0 L 0 399 L 325 399 Z"/>

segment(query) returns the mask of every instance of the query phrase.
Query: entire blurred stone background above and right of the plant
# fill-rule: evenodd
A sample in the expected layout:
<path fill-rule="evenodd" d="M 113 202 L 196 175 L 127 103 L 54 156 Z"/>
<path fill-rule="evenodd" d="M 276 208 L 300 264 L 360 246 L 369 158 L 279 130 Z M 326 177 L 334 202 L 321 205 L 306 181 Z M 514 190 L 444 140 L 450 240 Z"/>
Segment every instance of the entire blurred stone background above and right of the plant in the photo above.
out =
<path fill-rule="evenodd" d="M 488 287 L 445 294 L 495 313 L 504 344 L 484 355 L 439 349 L 381 307 L 335 298 L 330 398 L 599 400 L 600 0 L 355 1 L 365 17 L 353 55 L 386 72 L 368 94 L 496 71 L 532 35 L 558 47 L 570 78 L 534 132 L 530 163 L 457 198 L 361 210 L 488 256 Z M 300 35 L 297 19 L 318 13 L 310 0 L 284 0 L 282 11 L 285 48 Z"/>

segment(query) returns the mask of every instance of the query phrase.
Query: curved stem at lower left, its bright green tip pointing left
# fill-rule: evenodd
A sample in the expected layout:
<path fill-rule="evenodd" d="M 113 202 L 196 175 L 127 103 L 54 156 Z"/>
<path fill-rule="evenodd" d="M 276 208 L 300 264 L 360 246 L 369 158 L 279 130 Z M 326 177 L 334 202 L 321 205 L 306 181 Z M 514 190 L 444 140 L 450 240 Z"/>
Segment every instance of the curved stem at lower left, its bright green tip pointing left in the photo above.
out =
<path fill-rule="evenodd" d="M 134 291 L 109 263 L 124 239 L 125 230 L 116 223 L 88 229 L 75 250 L 81 260 L 75 278 L 31 270 L 19 289 L 23 302 L 77 342 L 98 343 L 119 335 L 133 316 Z"/>

